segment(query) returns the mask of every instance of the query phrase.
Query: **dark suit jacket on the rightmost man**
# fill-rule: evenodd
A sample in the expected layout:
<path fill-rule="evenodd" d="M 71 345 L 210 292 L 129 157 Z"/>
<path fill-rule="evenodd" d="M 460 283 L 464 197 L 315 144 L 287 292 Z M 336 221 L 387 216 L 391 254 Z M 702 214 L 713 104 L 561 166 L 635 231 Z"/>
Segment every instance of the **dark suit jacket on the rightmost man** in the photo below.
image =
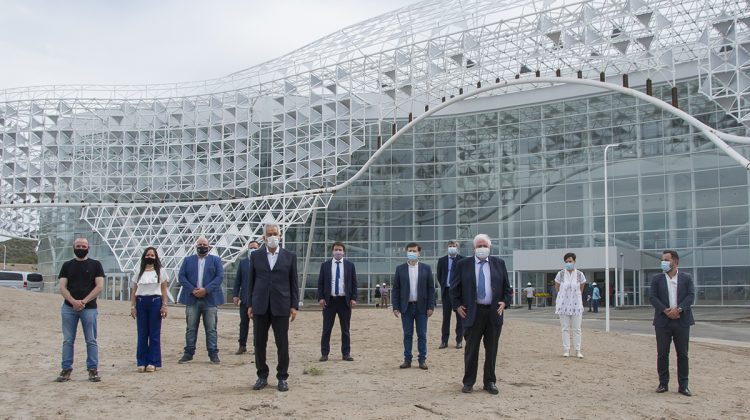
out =
<path fill-rule="evenodd" d="M 667 287 L 667 276 L 660 273 L 651 280 L 649 291 L 651 305 L 654 307 L 654 322 L 656 327 L 665 327 L 669 323 L 669 317 L 664 310 L 669 308 L 669 287 Z M 693 300 L 695 299 L 695 287 L 690 274 L 677 270 L 677 307 L 682 308 L 680 314 L 680 325 L 689 327 L 695 324 L 693 319 Z"/>

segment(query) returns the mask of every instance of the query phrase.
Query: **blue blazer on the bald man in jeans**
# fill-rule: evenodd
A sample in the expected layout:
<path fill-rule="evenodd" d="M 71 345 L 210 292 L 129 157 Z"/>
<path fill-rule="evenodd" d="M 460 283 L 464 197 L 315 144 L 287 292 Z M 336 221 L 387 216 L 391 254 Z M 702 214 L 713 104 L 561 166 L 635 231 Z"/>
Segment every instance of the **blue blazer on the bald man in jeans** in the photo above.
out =
<path fill-rule="evenodd" d="M 224 303 L 224 290 L 221 283 L 224 281 L 224 265 L 221 258 L 216 255 L 206 255 L 206 263 L 203 266 L 203 288 L 206 289 L 206 297 L 203 300 L 210 306 L 218 306 Z M 192 305 L 198 298 L 193 296 L 193 289 L 198 287 L 198 255 L 193 254 L 185 257 L 180 266 L 178 275 L 182 293 L 180 303 Z"/>

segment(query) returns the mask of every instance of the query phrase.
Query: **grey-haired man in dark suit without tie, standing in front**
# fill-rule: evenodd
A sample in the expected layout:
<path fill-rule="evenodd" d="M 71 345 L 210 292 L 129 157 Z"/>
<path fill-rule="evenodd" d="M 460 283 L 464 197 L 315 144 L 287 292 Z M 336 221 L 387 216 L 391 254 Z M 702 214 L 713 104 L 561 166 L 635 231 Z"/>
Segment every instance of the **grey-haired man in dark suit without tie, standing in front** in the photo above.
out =
<path fill-rule="evenodd" d="M 299 309 L 297 256 L 279 246 L 281 231 L 275 223 L 263 229 L 263 247 L 250 256 L 247 316 L 253 320 L 255 338 L 255 367 L 258 380 L 254 390 L 268 385 L 266 345 L 268 329 L 273 328 L 278 365 L 277 389 L 289 390 L 289 322 L 294 321 Z"/>

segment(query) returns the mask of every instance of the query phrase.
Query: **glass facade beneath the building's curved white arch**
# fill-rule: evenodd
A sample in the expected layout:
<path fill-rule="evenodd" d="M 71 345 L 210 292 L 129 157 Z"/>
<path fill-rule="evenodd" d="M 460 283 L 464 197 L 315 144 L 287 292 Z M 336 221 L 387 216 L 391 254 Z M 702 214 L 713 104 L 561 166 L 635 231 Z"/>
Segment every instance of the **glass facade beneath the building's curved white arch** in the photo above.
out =
<path fill-rule="evenodd" d="M 744 134 L 698 92 L 697 80 L 677 87 L 691 115 Z M 670 89 L 655 86 L 654 95 L 668 99 Z M 353 165 L 379 147 L 377 131 Z M 675 249 L 680 269 L 695 280 L 696 304 L 750 304 L 748 172 L 682 120 L 620 94 L 417 125 L 318 213 L 306 297 L 333 241 L 347 245 L 363 290 L 390 283 L 410 241 L 434 268 L 448 240 L 458 239 L 466 255 L 474 235 L 486 233 L 509 270 L 514 250 L 603 246 L 603 151 L 612 143 L 622 146 L 608 152 L 610 245 L 641 253 L 644 295 L 655 259 Z M 748 146 L 737 150 L 750 154 Z M 301 257 L 310 227 L 286 234 L 287 248 Z"/>

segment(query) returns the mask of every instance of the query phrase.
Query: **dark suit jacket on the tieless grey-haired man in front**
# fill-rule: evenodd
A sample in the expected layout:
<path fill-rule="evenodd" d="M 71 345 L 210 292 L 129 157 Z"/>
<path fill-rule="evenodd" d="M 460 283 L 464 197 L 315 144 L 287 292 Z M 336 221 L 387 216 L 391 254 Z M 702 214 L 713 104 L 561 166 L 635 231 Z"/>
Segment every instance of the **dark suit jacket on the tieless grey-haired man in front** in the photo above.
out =
<path fill-rule="evenodd" d="M 248 287 L 245 301 L 253 314 L 265 315 L 269 309 L 274 316 L 289 316 L 291 308 L 299 309 L 297 256 L 281 247 L 276 264 L 268 264 L 265 245 L 250 257 Z"/>

